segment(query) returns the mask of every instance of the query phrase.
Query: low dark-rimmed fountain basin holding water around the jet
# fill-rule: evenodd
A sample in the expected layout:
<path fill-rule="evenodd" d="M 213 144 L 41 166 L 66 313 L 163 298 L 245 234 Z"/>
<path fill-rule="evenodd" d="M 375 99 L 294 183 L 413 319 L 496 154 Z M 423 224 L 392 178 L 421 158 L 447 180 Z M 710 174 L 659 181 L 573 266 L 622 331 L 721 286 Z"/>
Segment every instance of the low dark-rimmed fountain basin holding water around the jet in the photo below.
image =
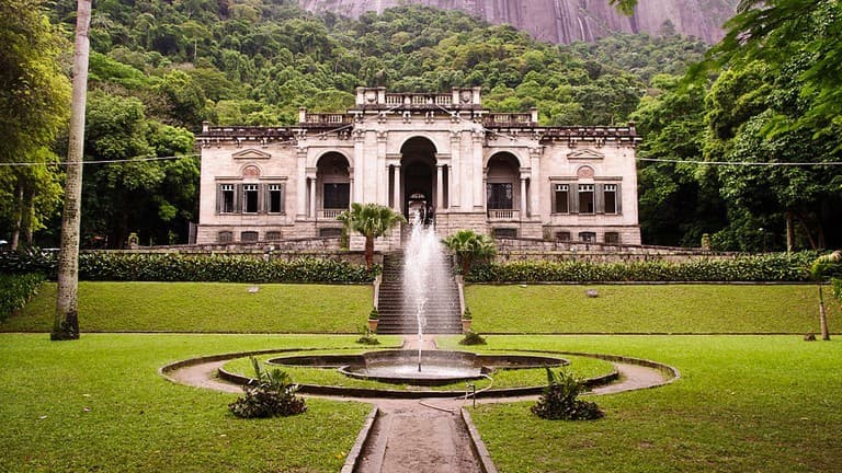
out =
<path fill-rule="evenodd" d="M 269 364 L 338 368 L 348 377 L 394 384 L 443 385 L 482 378 L 497 369 L 558 367 L 561 358 L 525 355 L 477 355 L 467 351 L 380 350 L 362 355 L 314 355 L 273 358 Z"/>

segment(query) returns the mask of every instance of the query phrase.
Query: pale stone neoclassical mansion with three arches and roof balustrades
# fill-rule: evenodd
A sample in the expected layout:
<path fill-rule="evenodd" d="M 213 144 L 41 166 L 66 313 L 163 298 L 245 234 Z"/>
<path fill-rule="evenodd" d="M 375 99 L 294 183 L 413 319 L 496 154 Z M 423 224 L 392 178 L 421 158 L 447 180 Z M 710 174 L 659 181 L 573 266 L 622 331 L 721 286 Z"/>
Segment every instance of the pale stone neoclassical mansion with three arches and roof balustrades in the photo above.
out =
<path fill-rule="evenodd" d="M 424 207 L 442 235 L 640 243 L 634 124 L 544 127 L 485 109 L 479 88 L 360 88 L 298 122 L 203 126 L 197 243 L 337 235 L 353 201 Z"/>

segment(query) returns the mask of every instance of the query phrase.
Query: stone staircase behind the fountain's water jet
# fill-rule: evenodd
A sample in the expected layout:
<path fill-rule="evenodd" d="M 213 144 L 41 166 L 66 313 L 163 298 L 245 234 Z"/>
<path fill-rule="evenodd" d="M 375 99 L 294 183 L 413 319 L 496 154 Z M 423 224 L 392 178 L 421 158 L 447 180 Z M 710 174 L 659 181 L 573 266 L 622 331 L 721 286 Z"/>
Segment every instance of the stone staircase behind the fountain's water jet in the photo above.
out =
<path fill-rule="evenodd" d="M 428 288 L 424 313 L 425 334 L 460 334 L 459 290 L 453 278 L 448 261 L 439 269 L 447 274 L 446 280 Z M 403 253 L 387 253 L 383 257 L 383 280 L 380 282 L 377 309 L 380 320 L 378 334 L 417 334 L 418 319 L 414 307 L 406 307 L 403 300 Z"/>

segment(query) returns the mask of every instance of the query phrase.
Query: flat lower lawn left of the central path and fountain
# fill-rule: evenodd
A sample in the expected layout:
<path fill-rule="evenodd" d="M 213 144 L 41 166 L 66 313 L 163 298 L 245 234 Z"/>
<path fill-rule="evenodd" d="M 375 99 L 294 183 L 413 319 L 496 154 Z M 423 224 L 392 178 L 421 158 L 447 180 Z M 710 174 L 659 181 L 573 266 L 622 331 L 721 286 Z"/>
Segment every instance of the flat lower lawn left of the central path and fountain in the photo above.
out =
<path fill-rule="evenodd" d="M 343 347 L 353 337 L 0 334 L 2 472 L 335 472 L 371 406 L 308 399 L 307 413 L 243 420 L 236 394 L 171 383 L 198 355 Z"/>

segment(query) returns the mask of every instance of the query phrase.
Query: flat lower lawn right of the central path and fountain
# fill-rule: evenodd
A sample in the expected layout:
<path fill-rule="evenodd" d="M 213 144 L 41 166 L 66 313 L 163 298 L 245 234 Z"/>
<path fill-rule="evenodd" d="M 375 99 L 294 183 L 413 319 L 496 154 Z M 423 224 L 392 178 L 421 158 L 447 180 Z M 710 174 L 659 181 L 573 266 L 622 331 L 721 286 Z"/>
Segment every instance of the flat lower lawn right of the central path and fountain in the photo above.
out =
<path fill-rule="evenodd" d="M 591 399 L 596 422 L 533 403 L 471 412 L 501 472 L 830 472 L 842 462 L 842 342 L 797 336 L 490 336 L 497 348 L 623 354 L 676 367 L 673 384 Z"/>

